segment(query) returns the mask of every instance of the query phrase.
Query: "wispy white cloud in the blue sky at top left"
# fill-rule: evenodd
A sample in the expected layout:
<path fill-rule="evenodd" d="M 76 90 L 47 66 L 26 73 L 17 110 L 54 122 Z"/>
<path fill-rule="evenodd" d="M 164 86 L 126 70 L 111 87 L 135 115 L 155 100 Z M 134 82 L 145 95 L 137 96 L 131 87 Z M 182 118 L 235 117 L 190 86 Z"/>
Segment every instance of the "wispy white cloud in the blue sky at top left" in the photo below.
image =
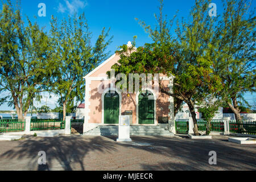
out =
<path fill-rule="evenodd" d="M 63 3 L 59 3 L 57 12 L 65 13 L 68 11 L 69 14 L 73 14 L 75 11 L 79 11 L 79 9 L 84 9 L 86 5 L 87 2 L 82 0 L 64 0 Z"/>

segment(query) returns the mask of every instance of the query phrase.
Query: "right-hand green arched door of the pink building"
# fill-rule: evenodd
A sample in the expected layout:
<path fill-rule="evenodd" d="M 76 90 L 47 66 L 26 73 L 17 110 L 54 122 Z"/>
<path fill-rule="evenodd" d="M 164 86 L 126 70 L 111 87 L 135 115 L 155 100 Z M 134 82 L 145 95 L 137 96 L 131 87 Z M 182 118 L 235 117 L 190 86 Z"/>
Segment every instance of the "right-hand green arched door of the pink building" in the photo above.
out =
<path fill-rule="evenodd" d="M 148 90 L 139 94 L 139 124 L 154 124 L 154 100 L 150 100 L 149 97 L 152 98 L 153 94 Z"/>

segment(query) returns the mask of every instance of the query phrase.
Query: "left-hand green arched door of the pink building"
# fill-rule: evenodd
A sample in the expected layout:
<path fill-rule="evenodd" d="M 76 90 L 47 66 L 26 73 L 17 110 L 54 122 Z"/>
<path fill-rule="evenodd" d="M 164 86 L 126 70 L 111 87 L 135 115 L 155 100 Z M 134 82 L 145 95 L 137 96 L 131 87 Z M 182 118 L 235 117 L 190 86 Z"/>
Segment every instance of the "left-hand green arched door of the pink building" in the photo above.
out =
<path fill-rule="evenodd" d="M 119 123 L 119 95 L 117 92 L 108 93 L 104 96 L 104 123 Z"/>

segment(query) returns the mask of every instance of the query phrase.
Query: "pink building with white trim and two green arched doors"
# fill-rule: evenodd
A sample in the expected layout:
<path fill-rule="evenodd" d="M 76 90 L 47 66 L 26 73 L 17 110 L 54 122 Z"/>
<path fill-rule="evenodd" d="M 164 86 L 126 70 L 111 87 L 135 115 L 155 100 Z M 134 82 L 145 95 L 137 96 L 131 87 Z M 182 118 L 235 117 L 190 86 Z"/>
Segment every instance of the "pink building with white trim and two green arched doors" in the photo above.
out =
<path fill-rule="evenodd" d="M 130 42 L 127 44 L 130 46 Z M 174 99 L 160 90 L 147 88 L 146 93 L 122 93 L 111 88 L 106 75 L 119 60 L 117 54 L 86 75 L 84 133 L 100 125 L 118 125 L 118 116 L 132 114 L 131 125 L 160 125 L 175 133 Z M 162 85 L 171 90 L 173 77 L 161 76 Z M 112 91 L 112 92 L 110 92 Z M 150 99 L 149 99 L 150 98 Z"/>

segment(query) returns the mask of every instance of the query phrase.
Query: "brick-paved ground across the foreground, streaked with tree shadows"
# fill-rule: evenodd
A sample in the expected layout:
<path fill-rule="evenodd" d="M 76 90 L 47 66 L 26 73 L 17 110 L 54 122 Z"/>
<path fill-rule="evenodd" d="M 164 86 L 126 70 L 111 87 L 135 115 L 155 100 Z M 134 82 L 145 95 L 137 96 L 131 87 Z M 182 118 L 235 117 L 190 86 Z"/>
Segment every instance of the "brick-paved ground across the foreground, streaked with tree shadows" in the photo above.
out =
<path fill-rule="evenodd" d="M 256 170 L 256 145 L 230 143 L 225 136 L 114 139 L 72 135 L 0 141 L 0 170 Z M 39 151 L 46 152 L 46 165 L 38 164 Z M 217 152 L 217 165 L 208 163 L 209 151 Z"/>

